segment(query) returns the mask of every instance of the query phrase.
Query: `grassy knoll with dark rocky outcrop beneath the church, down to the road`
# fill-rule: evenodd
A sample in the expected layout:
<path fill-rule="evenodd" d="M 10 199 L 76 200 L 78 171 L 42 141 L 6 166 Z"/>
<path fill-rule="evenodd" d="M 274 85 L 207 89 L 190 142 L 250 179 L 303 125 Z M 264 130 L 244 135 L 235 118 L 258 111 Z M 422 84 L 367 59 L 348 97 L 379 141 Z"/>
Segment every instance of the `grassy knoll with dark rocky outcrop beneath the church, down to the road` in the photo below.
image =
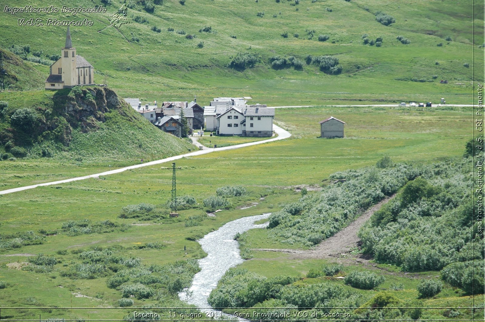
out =
<path fill-rule="evenodd" d="M 109 88 L 0 93 L 2 186 L 87 175 L 188 152 Z M 20 171 L 20 172 L 19 172 Z"/>

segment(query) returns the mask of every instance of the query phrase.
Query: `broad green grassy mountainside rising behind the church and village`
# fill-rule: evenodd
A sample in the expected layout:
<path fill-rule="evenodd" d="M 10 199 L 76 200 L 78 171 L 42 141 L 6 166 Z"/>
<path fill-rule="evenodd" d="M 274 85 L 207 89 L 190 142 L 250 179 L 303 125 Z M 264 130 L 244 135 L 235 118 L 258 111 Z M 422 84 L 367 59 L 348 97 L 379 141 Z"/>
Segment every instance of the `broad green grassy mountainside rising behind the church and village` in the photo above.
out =
<path fill-rule="evenodd" d="M 17 19 L 41 18 L 45 23 L 48 18 L 88 18 L 93 26 L 71 27 L 71 35 L 78 53 L 95 66 L 95 81 L 108 83 L 123 96 L 149 101 L 251 95 L 257 102 L 274 105 L 437 102 L 441 97 L 448 103 L 470 103 L 472 71 L 483 68 L 483 61 L 473 61 L 473 55 L 483 56 L 481 40 L 473 44 L 473 39 L 483 39 L 483 31 L 472 30 L 483 4 L 473 7 L 470 0 L 165 0 L 154 1 L 159 4 L 153 7 L 146 5 L 150 1 L 133 0 L 127 2 L 129 24 L 117 29 L 110 26 L 109 15 L 121 6 L 119 1 L 81 0 L 70 6 L 107 2 L 111 4 L 104 14 L 2 13 L 0 46 L 28 44 L 32 52 L 42 50 L 43 56 L 59 54 L 65 27 L 18 26 Z M 15 1 L 5 4 L 15 6 Z M 32 5 L 42 6 L 40 1 Z M 379 11 L 395 22 L 379 23 Z M 364 45 L 365 34 L 369 41 L 382 38 L 382 46 Z M 319 41 L 320 35 L 328 39 Z M 398 36 L 410 43 L 404 45 Z M 228 68 L 238 53 L 255 55 L 254 67 Z M 329 75 L 307 64 L 307 55 L 334 55 L 341 73 Z M 294 56 L 303 65 L 295 69 L 280 64 L 274 69 L 270 59 L 275 56 Z M 38 68 L 47 77 L 48 66 Z M 439 84 L 440 79 L 449 84 Z"/>

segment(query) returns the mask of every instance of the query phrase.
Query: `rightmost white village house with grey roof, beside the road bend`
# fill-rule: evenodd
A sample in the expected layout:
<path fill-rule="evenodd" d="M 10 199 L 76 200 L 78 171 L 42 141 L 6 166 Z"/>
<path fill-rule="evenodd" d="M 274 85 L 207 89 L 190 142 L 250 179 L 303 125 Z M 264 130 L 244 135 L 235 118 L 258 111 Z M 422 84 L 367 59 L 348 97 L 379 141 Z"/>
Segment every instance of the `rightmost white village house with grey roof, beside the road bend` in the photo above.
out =
<path fill-rule="evenodd" d="M 245 137 L 273 136 L 273 119 L 275 108 L 266 105 L 251 105 L 243 110 L 242 135 Z"/>

